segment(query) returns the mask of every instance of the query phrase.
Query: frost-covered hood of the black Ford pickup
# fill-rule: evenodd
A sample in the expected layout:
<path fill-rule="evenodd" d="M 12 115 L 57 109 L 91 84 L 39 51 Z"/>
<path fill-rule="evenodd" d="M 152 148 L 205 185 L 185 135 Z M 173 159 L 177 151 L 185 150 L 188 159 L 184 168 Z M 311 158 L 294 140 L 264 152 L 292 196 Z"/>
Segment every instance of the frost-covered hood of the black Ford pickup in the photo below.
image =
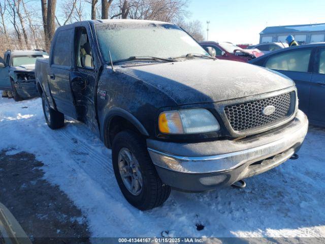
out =
<path fill-rule="evenodd" d="M 193 59 L 118 68 L 170 96 L 179 105 L 220 102 L 293 86 L 284 75 L 229 60 Z"/>

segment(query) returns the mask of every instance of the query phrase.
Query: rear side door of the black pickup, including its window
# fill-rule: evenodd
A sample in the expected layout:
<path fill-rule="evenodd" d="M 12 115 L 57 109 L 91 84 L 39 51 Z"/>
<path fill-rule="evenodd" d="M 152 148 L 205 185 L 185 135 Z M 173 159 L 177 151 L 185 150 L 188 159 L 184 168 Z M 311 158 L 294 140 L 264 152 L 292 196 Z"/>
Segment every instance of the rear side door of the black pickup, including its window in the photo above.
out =
<path fill-rule="evenodd" d="M 48 81 L 57 110 L 73 118 L 77 118 L 75 101 L 70 84 L 73 36 L 73 27 L 62 29 L 56 33 L 52 48 Z"/>

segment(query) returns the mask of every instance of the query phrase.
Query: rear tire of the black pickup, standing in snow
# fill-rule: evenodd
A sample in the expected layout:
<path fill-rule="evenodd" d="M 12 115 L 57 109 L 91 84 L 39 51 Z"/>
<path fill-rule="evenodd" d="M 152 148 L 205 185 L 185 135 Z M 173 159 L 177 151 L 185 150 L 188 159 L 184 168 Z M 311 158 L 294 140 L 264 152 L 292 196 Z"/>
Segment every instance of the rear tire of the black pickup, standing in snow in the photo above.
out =
<path fill-rule="evenodd" d="M 64 114 L 52 109 L 45 94 L 42 94 L 42 107 L 46 124 L 52 129 L 59 129 L 64 126 Z"/>

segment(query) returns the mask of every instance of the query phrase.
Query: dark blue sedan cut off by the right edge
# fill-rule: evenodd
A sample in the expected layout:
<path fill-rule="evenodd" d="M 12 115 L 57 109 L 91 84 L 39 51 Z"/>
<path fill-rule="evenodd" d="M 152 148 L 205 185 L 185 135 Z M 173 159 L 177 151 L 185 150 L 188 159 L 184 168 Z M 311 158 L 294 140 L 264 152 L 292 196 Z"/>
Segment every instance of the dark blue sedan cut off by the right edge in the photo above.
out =
<path fill-rule="evenodd" d="M 310 124 L 325 127 L 325 43 L 284 48 L 248 63 L 266 67 L 293 79 L 299 108 Z"/>

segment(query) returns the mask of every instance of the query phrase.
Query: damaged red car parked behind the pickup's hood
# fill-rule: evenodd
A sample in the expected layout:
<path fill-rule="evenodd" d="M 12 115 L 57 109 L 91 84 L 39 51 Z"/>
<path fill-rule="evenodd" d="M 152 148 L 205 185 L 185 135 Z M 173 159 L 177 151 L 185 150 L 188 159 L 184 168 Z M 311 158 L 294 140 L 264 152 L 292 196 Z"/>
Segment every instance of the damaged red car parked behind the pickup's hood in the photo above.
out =
<path fill-rule="evenodd" d="M 264 53 L 258 49 L 243 49 L 230 42 L 199 42 L 200 45 L 211 55 L 219 59 L 227 59 L 247 63 Z"/>

